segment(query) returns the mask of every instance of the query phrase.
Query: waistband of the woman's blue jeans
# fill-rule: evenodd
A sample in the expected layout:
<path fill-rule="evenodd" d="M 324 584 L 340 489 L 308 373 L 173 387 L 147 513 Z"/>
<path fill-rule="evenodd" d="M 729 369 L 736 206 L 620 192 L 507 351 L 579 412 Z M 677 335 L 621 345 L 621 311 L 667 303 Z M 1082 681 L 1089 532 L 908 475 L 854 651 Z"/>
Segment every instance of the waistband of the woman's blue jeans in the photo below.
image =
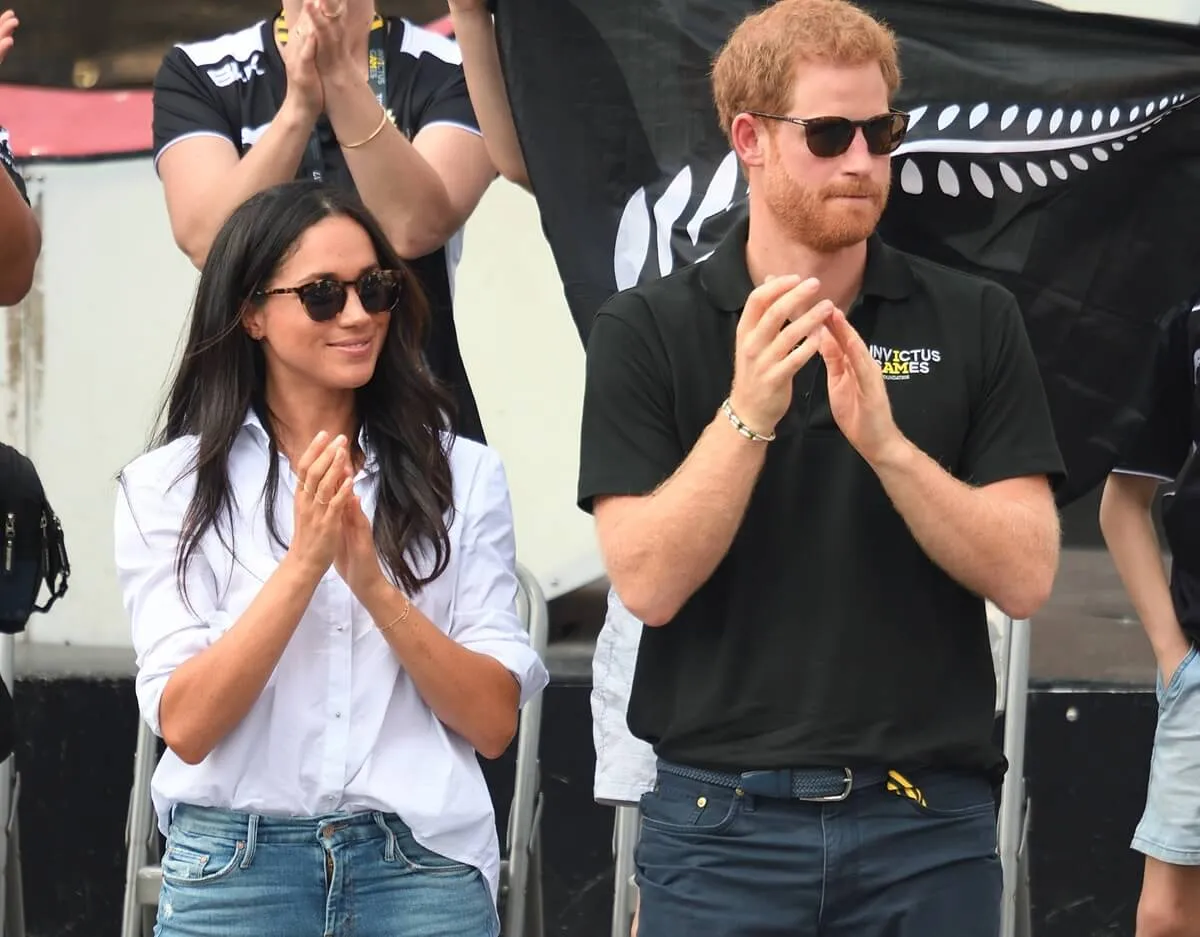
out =
<path fill-rule="evenodd" d="M 335 834 L 342 840 L 386 837 L 408 830 L 395 813 L 378 810 L 328 813 L 318 817 L 281 817 L 222 807 L 176 804 L 170 829 L 198 836 L 245 839 L 258 843 L 312 843 Z"/>

